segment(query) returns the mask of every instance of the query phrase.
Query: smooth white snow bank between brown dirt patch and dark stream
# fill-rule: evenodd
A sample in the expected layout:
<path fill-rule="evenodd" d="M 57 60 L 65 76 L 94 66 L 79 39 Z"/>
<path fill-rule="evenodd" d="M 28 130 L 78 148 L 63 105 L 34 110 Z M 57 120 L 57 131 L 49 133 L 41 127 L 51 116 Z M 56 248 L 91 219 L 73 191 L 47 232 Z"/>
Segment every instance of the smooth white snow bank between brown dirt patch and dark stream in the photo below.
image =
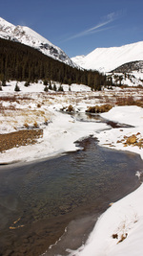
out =
<path fill-rule="evenodd" d="M 52 122 L 44 128 L 43 138 L 38 139 L 35 145 L 14 148 L 1 153 L 0 163 L 14 161 L 32 161 L 51 157 L 67 151 L 77 151 L 79 148 L 74 143 L 89 135 L 94 135 L 95 130 L 106 128 L 106 124 L 83 123 L 75 121 L 70 115 L 54 113 Z M 31 154 L 30 154 L 31 151 Z"/>

